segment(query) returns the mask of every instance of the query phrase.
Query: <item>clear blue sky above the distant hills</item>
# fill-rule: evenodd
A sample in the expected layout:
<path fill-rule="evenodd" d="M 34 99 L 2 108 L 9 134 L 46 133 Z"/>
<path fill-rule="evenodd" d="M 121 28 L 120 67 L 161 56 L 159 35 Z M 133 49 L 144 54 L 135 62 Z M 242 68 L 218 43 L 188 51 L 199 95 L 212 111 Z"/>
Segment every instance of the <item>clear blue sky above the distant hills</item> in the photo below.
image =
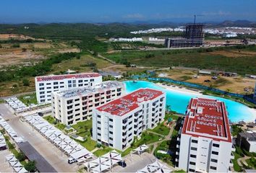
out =
<path fill-rule="evenodd" d="M 1 0 L 0 22 L 256 21 L 256 0 Z"/>

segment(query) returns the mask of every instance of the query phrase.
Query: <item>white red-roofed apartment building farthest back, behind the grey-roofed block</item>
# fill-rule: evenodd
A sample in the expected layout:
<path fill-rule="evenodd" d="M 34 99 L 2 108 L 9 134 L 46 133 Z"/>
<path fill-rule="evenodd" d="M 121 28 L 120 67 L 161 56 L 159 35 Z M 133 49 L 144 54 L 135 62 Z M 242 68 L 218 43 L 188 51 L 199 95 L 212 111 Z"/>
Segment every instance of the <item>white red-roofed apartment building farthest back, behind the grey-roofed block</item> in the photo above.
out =
<path fill-rule="evenodd" d="M 38 103 L 50 103 L 51 92 L 82 86 L 93 86 L 102 82 L 101 74 L 64 74 L 35 77 L 35 92 Z"/>

